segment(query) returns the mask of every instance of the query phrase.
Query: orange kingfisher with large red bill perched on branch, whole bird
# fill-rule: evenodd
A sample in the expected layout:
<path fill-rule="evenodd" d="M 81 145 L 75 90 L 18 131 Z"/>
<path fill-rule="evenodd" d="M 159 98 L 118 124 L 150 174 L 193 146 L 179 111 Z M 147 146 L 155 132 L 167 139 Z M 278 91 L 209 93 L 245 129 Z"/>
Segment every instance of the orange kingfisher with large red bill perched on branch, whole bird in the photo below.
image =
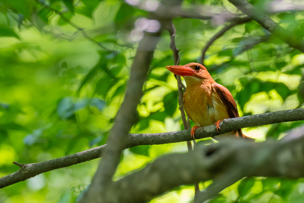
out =
<path fill-rule="evenodd" d="M 230 91 L 216 83 L 205 66 L 188 63 L 166 68 L 185 79 L 187 90 L 183 95 L 184 108 L 188 117 L 196 124 L 191 129 L 191 137 L 194 138 L 196 128 L 215 124 L 219 131 L 219 123 L 223 119 L 240 117 Z M 224 135 L 228 134 L 254 140 L 243 135 L 241 129 Z"/>

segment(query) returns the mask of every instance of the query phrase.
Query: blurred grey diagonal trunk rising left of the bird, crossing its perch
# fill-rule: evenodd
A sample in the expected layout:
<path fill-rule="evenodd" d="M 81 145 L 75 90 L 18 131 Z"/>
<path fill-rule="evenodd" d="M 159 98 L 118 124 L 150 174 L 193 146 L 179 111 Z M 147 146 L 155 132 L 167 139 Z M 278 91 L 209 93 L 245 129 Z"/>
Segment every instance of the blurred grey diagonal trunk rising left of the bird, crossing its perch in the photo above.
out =
<path fill-rule="evenodd" d="M 162 29 L 156 33 L 146 32 L 138 45 L 125 99 L 116 115 L 115 124 L 107 140 L 108 145 L 104 149 L 102 161 L 98 166 L 92 184 L 80 203 L 96 202 L 96 197 L 100 196 L 102 191 L 112 181 L 122 150 L 128 146 L 128 132 L 138 119 L 137 104 L 143 95 L 143 84 L 161 31 Z"/>

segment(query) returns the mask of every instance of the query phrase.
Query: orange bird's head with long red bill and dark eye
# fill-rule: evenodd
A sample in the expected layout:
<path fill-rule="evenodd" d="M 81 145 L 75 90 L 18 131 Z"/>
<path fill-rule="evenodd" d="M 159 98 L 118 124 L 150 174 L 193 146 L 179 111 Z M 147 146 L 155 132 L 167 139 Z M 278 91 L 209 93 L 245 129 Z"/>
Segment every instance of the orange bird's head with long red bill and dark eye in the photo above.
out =
<path fill-rule="evenodd" d="M 187 80 L 203 81 L 205 79 L 212 78 L 205 66 L 199 63 L 188 63 L 186 65 L 169 65 L 166 66 L 166 68 L 174 74 L 184 77 L 186 82 Z"/>

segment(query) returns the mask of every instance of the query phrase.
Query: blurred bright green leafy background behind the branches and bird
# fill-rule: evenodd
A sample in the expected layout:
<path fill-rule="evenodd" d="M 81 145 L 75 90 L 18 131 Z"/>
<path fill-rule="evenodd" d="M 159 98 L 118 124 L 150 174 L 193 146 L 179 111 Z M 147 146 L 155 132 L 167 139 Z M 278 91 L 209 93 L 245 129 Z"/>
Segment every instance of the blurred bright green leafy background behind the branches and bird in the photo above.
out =
<path fill-rule="evenodd" d="M 304 37 L 303 1 L 251 0 L 280 26 Z M 66 156 L 106 143 L 155 0 L 0 0 L 0 177 L 19 166 Z M 208 40 L 231 19 L 243 17 L 227 0 L 184 0 L 185 14 L 209 20 L 173 19 L 180 65 L 200 62 Z M 158 12 L 165 15 L 175 10 Z M 173 14 L 170 15 L 173 15 Z M 175 12 L 175 16 L 179 16 Z M 164 30 L 138 105 L 131 133 L 183 130 L 170 35 Z M 235 98 L 240 116 L 301 108 L 304 54 L 250 21 L 228 30 L 207 50 L 204 64 Z M 257 142 L 280 139 L 303 121 L 245 128 Z M 192 125 L 193 126 L 193 122 Z M 199 140 L 209 144 L 211 138 Z M 187 152 L 186 142 L 126 149 L 115 174 L 171 152 Z M 0 189 L 2 203 L 70 203 L 90 184 L 99 160 L 40 174 Z M 207 187 L 211 181 L 200 183 Z M 304 202 L 304 179 L 245 178 L 212 203 Z M 151 202 L 191 202 L 193 185 L 181 186 Z"/>

